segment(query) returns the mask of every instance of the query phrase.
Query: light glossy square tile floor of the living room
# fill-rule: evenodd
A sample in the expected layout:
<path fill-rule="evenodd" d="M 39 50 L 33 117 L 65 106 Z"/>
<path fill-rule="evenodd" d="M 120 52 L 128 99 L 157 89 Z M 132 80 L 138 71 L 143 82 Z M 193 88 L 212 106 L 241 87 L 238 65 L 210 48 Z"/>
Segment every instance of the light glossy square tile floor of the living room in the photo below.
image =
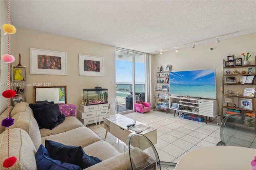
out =
<path fill-rule="evenodd" d="M 217 119 L 203 122 L 174 117 L 174 113 L 166 114 L 163 111 L 150 111 L 148 113 L 128 113 L 124 116 L 136 121 L 146 123 L 157 129 L 157 143 L 154 145 L 160 161 L 178 162 L 182 156 L 197 148 L 215 146 L 220 141 L 220 125 Z M 100 125 L 87 125 L 103 140 L 114 146 L 120 153 L 124 152 L 124 142 L 108 132 L 103 123 Z"/>

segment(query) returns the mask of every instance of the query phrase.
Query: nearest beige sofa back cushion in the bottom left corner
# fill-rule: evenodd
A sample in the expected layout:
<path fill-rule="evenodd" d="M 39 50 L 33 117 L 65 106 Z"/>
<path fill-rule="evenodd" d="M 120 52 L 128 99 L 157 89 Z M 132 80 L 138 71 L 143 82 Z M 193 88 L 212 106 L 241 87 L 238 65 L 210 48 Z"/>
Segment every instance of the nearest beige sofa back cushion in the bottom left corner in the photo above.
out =
<path fill-rule="evenodd" d="M 12 170 L 36 170 L 36 148 L 28 135 L 21 128 L 12 128 L 10 131 L 10 156 L 17 158 Z M 0 162 L 8 158 L 8 130 L 0 134 Z M 2 169 L 1 167 L 0 169 Z M 6 168 L 4 168 L 6 169 Z"/>

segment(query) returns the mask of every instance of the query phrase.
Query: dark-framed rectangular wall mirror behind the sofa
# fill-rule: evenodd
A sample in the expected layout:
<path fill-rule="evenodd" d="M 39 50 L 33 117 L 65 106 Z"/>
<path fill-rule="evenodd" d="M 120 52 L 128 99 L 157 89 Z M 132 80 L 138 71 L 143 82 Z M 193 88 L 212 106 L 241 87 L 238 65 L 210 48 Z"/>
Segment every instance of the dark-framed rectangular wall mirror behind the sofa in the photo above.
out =
<path fill-rule="evenodd" d="M 53 101 L 67 104 L 67 86 L 34 86 L 34 103 L 37 101 Z"/>

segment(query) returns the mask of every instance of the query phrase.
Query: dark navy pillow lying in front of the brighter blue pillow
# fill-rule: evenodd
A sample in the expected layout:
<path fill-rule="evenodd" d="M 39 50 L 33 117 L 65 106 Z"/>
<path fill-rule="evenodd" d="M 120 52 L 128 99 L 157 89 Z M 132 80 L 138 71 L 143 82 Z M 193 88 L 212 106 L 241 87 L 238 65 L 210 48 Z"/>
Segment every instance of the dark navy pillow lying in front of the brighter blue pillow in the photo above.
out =
<path fill-rule="evenodd" d="M 68 146 L 52 140 L 45 140 L 45 147 L 51 158 L 61 162 L 76 164 L 82 169 L 102 161 L 99 158 L 87 155 L 82 146 Z"/>

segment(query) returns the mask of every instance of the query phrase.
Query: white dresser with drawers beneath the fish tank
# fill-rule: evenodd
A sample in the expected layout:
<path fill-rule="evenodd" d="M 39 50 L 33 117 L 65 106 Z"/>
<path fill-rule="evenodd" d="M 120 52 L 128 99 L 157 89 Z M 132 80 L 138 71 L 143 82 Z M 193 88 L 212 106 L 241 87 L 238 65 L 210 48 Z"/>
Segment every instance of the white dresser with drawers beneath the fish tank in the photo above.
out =
<path fill-rule="evenodd" d="M 103 117 L 110 114 L 110 103 L 98 104 L 98 105 L 81 105 L 77 111 L 79 120 L 84 125 L 92 123 L 103 122 Z"/>

